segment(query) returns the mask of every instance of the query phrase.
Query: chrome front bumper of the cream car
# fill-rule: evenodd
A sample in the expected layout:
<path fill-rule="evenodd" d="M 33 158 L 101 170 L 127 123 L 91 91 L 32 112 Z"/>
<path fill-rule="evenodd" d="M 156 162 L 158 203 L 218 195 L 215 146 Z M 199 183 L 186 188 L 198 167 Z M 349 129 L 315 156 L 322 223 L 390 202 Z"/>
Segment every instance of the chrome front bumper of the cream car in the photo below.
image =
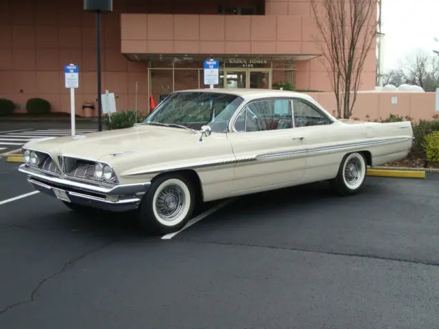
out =
<path fill-rule="evenodd" d="M 134 195 L 139 192 L 146 191 L 146 189 L 150 186 L 150 182 L 137 183 L 137 184 L 123 184 L 117 185 L 112 188 L 104 188 L 101 186 L 93 186 L 90 184 L 83 184 L 80 182 L 73 182 L 71 180 L 66 180 L 62 178 L 49 177 L 47 175 L 42 175 L 40 173 L 36 173 L 31 171 L 25 167 L 25 164 L 21 164 L 19 167 L 19 171 L 21 173 L 25 173 L 30 176 L 30 178 L 38 178 L 45 182 L 51 182 L 54 184 L 60 184 L 64 186 L 71 186 L 73 188 L 79 188 L 84 191 L 92 192 L 92 193 L 102 193 L 105 195 Z M 32 182 L 35 182 L 32 180 Z"/>

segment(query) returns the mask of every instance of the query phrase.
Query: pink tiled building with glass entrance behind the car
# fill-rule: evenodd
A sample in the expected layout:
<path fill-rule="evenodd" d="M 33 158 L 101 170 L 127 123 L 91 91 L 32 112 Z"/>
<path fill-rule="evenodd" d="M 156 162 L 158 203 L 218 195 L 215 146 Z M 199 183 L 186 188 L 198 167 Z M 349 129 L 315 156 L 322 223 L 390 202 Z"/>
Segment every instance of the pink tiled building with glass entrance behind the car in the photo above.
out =
<path fill-rule="evenodd" d="M 78 64 L 78 114 L 96 100 L 95 15 L 82 0 L 0 0 L 0 97 L 24 106 L 47 99 L 70 112 L 64 65 Z M 203 61 L 220 63 L 216 88 L 330 91 L 313 41 L 318 34 L 310 0 L 114 0 L 102 16 L 102 92 L 117 109 L 147 112 L 172 90 L 204 88 Z M 375 88 L 375 45 L 361 90 Z"/>

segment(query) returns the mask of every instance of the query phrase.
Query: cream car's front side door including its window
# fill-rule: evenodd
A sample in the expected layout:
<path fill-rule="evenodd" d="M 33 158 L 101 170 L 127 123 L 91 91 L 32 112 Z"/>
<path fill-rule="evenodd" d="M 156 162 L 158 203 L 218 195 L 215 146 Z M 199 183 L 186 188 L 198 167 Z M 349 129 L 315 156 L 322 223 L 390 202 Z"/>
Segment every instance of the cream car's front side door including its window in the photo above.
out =
<path fill-rule="evenodd" d="M 237 159 L 233 193 L 265 191 L 302 179 L 306 145 L 294 129 L 291 99 L 257 99 L 241 110 L 228 138 Z"/>

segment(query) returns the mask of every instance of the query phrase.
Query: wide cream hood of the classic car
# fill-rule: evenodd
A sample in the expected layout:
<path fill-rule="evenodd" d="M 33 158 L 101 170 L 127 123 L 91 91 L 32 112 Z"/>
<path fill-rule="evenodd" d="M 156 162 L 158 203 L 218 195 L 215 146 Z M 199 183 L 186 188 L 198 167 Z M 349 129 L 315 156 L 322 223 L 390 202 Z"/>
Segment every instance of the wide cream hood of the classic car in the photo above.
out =
<path fill-rule="evenodd" d="M 185 143 L 194 144 L 200 138 L 197 135 L 181 128 L 137 125 L 121 130 L 43 138 L 30 141 L 24 147 L 53 155 L 64 154 L 99 160 L 108 154 L 121 152 L 154 151 L 165 147 L 168 151 L 180 149 Z"/>

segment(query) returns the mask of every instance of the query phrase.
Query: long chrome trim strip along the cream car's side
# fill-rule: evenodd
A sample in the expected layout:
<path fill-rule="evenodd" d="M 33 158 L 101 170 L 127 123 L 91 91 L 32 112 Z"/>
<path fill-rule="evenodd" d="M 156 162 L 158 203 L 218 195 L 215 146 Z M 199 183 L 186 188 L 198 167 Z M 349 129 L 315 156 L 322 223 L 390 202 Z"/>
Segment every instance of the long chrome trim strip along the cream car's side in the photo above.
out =
<path fill-rule="evenodd" d="M 340 145 L 334 146 L 325 146 L 325 147 L 311 147 L 302 149 L 294 149 L 292 151 L 281 151 L 281 152 L 273 152 L 273 153 L 264 153 L 264 154 L 255 154 L 253 156 L 243 156 L 239 158 L 227 158 L 225 160 L 210 160 L 210 161 L 202 161 L 202 162 L 191 162 L 188 164 L 169 166 L 169 167 L 159 167 L 154 169 L 147 169 L 142 171 L 135 171 L 134 173 L 128 173 L 128 176 L 133 175 L 147 175 L 151 173 L 163 173 L 166 171 L 175 171 L 182 169 L 200 169 L 207 167 L 216 167 L 224 164 L 237 164 L 243 162 L 250 162 L 256 160 L 268 160 L 268 159 L 276 159 L 276 158 L 289 158 L 289 157 L 305 157 L 305 156 L 318 156 L 321 153 L 329 153 L 332 151 L 338 151 L 340 149 L 355 149 L 357 147 L 366 147 L 366 146 L 374 146 L 374 145 L 383 145 L 390 143 L 398 143 L 402 141 L 406 141 L 407 139 L 412 139 L 412 137 L 401 137 L 401 138 L 389 138 L 383 139 L 381 141 L 364 141 L 358 143 L 343 143 Z"/>

